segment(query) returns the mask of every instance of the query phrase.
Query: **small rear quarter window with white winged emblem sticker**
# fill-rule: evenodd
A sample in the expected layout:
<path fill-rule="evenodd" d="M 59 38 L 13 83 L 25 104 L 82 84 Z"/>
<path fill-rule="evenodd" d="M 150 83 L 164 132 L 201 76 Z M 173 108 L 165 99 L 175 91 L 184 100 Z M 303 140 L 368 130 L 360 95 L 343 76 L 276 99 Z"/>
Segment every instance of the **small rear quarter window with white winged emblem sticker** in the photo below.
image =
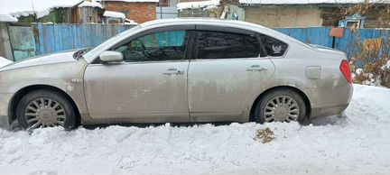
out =
<path fill-rule="evenodd" d="M 283 41 L 274 39 L 273 37 L 260 34 L 260 40 L 262 41 L 265 51 L 271 57 L 281 57 L 287 51 L 288 45 Z"/>

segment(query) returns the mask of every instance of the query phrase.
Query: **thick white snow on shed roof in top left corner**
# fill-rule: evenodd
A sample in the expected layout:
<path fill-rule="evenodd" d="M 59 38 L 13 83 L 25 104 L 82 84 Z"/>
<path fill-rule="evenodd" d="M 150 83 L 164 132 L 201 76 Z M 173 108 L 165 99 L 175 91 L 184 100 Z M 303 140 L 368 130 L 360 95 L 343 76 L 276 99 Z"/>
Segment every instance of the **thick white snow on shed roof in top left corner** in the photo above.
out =
<path fill-rule="evenodd" d="M 36 14 L 41 18 L 50 13 L 51 9 L 59 7 L 72 7 L 79 5 L 83 0 L 2 0 L 0 14 L 14 17 Z"/>

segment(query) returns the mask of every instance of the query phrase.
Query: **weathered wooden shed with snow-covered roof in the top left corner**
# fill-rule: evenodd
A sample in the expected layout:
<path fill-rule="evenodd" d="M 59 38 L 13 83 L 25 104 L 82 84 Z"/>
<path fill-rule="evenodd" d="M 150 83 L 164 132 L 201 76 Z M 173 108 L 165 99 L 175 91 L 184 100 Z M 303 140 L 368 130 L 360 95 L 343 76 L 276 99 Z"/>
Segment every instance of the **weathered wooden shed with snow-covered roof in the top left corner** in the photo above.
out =
<path fill-rule="evenodd" d="M 84 0 L 3 1 L 0 21 L 17 23 L 98 23 L 102 5 Z M 12 18 L 9 18 L 12 17 Z"/>

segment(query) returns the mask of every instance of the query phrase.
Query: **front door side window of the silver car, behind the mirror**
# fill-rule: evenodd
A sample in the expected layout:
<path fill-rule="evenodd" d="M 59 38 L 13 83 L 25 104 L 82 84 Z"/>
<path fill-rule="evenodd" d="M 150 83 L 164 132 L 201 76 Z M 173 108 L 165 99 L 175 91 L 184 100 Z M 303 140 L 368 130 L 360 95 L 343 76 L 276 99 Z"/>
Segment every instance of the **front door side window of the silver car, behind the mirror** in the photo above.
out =
<path fill-rule="evenodd" d="M 183 60 L 187 44 L 187 32 L 154 32 L 119 46 L 126 62 Z"/>

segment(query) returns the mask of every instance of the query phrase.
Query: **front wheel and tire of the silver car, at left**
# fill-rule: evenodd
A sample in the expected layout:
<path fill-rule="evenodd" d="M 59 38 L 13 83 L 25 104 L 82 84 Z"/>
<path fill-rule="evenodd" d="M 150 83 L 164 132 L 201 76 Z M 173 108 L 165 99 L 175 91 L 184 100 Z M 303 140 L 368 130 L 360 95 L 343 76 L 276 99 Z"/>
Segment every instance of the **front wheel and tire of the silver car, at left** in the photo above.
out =
<path fill-rule="evenodd" d="M 53 90 L 34 90 L 25 95 L 16 107 L 16 116 L 24 129 L 61 125 L 70 130 L 76 127 L 76 114 L 70 101 Z"/>

